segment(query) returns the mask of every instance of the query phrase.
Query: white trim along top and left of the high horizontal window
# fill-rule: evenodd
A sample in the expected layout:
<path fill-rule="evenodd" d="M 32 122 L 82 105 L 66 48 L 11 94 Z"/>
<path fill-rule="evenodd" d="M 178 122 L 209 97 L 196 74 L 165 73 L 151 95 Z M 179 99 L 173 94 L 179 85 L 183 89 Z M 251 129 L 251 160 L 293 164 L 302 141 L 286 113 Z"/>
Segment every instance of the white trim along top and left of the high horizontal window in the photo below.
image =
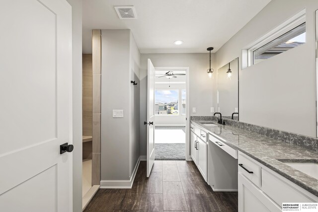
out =
<path fill-rule="evenodd" d="M 275 40 L 279 36 L 285 34 L 286 32 L 292 30 L 293 28 L 299 26 L 300 24 L 306 22 L 306 8 L 302 11 L 295 14 L 293 17 L 284 21 L 279 26 L 275 27 L 256 41 L 249 44 L 245 50 L 247 50 L 247 58 L 246 54 L 242 51 L 242 58 L 247 60 L 247 67 L 250 67 L 253 64 L 253 51 L 264 46 L 265 44 Z M 242 63 L 243 64 L 243 63 Z M 246 68 L 246 67 L 242 67 Z"/>

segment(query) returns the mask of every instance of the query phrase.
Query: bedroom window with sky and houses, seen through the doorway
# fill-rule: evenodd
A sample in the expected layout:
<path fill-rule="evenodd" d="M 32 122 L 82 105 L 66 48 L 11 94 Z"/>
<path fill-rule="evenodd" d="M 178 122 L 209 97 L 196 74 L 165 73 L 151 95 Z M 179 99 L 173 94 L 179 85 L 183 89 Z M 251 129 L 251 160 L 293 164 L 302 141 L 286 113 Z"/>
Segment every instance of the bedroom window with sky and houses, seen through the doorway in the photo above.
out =
<path fill-rule="evenodd" d="M 178 99 L 178 90 L 155 90 L 155 114 L 179 115 Z"/>

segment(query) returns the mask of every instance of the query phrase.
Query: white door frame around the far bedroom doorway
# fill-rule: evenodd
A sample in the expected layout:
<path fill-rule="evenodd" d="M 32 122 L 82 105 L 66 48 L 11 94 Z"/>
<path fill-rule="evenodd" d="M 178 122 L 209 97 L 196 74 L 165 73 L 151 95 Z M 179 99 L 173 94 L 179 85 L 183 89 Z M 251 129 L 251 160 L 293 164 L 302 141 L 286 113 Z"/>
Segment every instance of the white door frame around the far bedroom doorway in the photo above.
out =
<path fill-rule="evenodd" d="M 190 155 L 190 68 L 189 67 L 155 67 L 160 71 L 185 71 L 185 160 L 192 160 Z M 155 141 L 156 142 L 156 141 Z"/>

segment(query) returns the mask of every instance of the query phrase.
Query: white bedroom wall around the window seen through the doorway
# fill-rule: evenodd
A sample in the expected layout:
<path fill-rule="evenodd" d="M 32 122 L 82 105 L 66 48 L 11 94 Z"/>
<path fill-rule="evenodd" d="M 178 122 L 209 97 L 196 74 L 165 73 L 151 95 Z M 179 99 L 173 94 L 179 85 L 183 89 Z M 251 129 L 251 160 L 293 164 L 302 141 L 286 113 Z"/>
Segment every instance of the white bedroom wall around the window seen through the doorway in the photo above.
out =
<path fill-rule="evenodd" d="M 163 77 L 162 77 L 163 78 Z M 166 77 L 164 77 L 166 78 Z M 185 78 L 185 77 L 184 77 Z M 156 78 L 157 80 L 157 78 Z M 171 79 L 173 80 L 173 79 Z M 185 114 L 182 115 L 182 104 L 181 104 L 181 90 L 185 90 L 185 82 L 182 84 L 155 84 L 155 89 L 157 90 L 178 90 L 179 99 L 178 99 L 178 110 L 179 115 L 156 115 L 155 122 L 156 126 L 185 126 Z"/>

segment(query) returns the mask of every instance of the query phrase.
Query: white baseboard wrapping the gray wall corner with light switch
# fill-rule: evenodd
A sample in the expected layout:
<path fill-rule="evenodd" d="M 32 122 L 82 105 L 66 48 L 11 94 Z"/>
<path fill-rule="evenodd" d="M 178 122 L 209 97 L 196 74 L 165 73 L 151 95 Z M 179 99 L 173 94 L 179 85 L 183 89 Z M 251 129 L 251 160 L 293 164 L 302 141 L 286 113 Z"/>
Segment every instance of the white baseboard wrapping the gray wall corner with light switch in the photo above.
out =
<path fill-rule="evenodd" d="M 133 171 L 130 180 L 101 180 L 100 189 L 131 189 L 136 177 L 136 173 L 140 164 L 140 157 L 136 163 L 135 169 Z"/>

